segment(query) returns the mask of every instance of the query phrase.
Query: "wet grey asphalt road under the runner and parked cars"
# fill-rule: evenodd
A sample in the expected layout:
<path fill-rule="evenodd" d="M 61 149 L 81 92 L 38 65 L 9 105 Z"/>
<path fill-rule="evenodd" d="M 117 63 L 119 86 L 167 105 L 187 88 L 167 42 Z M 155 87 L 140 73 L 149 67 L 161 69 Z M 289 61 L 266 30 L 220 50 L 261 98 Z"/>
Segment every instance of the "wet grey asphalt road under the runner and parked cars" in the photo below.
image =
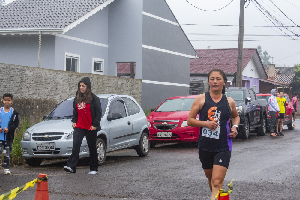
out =
<path fill-rule="evenodd" d="M 232 157 L 223 188 L 233 181 L 230 199 L 299 199 L 300 120 L 296 128 L 284 126 L 284 136 L 257 136 L 233 140 Z M 107 154 L 97 175 L 88 175 L 88 159 L 80 159 L 76 174 L 63 170 L 67 160 L 47 161 L 0 174 L 0 195 L 38 177 L 48 175 L 50 199 L 210 199 L 208 181 L 195 145 L 161 144 L 147 157 L 135 150 Z M 34 199 L 36 185 L 15 199 Z"/>

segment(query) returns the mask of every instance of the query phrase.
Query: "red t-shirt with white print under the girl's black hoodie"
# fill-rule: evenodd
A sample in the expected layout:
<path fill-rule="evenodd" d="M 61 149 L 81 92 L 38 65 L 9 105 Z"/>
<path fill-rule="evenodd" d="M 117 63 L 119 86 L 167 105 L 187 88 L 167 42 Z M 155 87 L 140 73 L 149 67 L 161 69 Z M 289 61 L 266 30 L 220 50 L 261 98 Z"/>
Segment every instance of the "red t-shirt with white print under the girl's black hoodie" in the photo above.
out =
<path fill-rule="evenodd" d="M 91 115 L 91 106 L 90 104 L 85 104 L 85 101 L 82 103 L 77 103 L 77 128 L 89 130 L 92 126 L 92 115 Z"/>

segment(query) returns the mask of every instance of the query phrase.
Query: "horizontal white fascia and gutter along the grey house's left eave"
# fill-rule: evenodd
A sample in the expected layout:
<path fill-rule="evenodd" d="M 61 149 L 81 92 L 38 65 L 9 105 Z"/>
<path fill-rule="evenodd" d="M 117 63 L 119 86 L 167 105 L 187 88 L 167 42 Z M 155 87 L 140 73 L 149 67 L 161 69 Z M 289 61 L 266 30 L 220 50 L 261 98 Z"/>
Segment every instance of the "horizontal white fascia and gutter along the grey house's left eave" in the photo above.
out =
<path fill-rule="evenodd" d="M 3 28 L 0 35 L 30 35 L 30 34 L 57 34 L 63 33 L 63 28 Z"/>

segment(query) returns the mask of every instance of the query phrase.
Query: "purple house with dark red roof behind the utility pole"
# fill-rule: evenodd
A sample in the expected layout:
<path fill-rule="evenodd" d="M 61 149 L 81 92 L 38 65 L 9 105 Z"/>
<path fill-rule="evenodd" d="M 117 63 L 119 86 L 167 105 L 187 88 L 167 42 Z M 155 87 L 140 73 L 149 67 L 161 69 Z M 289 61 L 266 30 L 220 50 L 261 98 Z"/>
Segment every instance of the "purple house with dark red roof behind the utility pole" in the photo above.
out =
<path fill-rule="evenodd" d="M 190 59 L 190 94 L 202 94 L 208 90 L 208 72 L 223 70 L 228 78 L 226 87 L 235 87 L 232 82 L 236 72 L 238 49 L 195 49 L 196 59 Z M 268 76 L 257 49 L 243 50 L 242 87 L 253 88 L 259 93 L 259 79 Z"/>

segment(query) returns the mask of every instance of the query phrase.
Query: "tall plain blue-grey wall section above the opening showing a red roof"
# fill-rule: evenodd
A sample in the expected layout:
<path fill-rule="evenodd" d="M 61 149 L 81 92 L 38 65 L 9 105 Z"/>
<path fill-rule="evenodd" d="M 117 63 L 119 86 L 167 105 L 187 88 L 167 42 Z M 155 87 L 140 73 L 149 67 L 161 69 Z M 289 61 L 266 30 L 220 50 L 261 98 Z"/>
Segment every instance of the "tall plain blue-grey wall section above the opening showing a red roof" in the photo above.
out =
<path fill-rule="evenodd" d="M 116 76 L 116 62 L 136 62 L 142 78 L 143 1 L 122 0 L 109 5 L 108 75 Z"/>

